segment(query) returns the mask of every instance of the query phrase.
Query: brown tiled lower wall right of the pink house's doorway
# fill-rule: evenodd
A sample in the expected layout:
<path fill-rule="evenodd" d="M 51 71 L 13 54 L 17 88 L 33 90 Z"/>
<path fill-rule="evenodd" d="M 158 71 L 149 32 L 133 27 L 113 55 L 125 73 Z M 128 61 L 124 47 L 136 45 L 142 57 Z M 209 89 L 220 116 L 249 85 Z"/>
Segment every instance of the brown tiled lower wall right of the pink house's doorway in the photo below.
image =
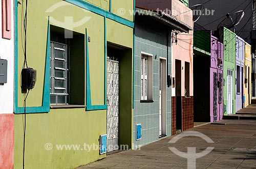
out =
<path fill-rule="evenodd" d="M 182 97 L 182 131 L 194 127 L 194 97 Z"/>

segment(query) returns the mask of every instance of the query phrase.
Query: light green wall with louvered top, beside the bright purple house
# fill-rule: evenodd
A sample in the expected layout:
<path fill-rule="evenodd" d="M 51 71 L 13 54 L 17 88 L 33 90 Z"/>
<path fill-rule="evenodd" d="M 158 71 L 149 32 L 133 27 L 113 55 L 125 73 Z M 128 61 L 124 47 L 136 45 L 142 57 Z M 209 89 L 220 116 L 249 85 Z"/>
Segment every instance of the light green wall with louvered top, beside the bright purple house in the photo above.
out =
<path fill-rule="evenodd" d="M 233 70 L 232 79 L 232 102 L 233 102 L 233 114 L 236 114 L 236 42 L 237 36 L 226 27 L 222 28 L 220 39 L 224 44 L 224 61 L 223 61 L 223 103 L 224 103 L 224 115 L 227 115 L 227 69 Z M 226 108 L 225 108 L 226 107 Z M 226 109 L 226 111 L 225 111 Z"/>

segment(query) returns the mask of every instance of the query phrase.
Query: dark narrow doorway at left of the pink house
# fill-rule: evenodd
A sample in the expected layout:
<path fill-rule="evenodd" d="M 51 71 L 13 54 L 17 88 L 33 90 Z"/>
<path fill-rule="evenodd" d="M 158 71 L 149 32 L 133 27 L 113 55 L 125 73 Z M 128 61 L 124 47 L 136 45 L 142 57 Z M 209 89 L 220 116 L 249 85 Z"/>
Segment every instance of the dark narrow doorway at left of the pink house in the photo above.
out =
<path fill-rule="evenodd" d="M 181 60 L 175 60 L 175 76 L 176 130 L 179 133 L 182 131 Z"/>

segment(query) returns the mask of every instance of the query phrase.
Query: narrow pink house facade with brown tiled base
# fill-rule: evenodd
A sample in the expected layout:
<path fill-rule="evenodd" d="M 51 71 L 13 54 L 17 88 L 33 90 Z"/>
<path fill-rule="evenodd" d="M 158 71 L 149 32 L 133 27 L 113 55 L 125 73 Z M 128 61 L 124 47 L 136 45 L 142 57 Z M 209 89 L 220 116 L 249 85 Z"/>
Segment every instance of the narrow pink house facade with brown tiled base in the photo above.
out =
<path fill-rule="evenodd" d="M 179 0 L 172 0 L 172 16 L 194 27 L 193 12 Z M 177 37 L 177 39 L 176 39 Z M 177 40 L 177 43 L 175 43 Z M 172 134 L 194 127 L 193 30 L 173 31 L 172 44 Z"/>

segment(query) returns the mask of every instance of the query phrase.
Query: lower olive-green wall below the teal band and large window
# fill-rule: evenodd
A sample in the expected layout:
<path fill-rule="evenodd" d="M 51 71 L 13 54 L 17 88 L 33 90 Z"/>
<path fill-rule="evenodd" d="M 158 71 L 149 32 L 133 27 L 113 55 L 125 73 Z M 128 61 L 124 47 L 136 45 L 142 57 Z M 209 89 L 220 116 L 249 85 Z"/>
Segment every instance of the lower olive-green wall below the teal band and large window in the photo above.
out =
<path fill-rule="evenodd" d="M 25 168 L 75 168 L 105 157 L 97 148 L 106 133 L 106 112 L 84 112 L 84 108 L 51 109 L 48 114 L 29 114 L 26 126 Z M 24 115 L 14 119 L 14 168 L 23 166 Z M 45 146 L 52 144 L 52 150 Z M 78 150 L 57 150 L 56 145 L 80 145 Z"/>

